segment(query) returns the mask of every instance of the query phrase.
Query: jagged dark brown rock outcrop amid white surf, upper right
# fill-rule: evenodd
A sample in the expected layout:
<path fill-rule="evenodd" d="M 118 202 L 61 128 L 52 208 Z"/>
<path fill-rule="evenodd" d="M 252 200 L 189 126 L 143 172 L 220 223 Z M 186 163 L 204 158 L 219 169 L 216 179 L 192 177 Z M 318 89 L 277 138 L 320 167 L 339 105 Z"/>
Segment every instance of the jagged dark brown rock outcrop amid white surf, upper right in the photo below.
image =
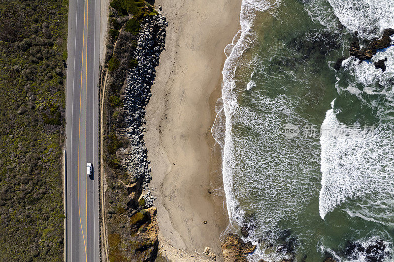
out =
<path fill-rule="evenodd" d="M 351 56 L 359 58 L 361 61 L 369 60 L 376 55 L 377 50 L 384 49 L 392 45 L 391 36 L 394 34 L 394 29 L 385 29 L 383 36 L 380 39 L 373 39 L 372 42 L 365 48 L 360 48 L 358 42 L 350 44 L 349 53 Z"/>

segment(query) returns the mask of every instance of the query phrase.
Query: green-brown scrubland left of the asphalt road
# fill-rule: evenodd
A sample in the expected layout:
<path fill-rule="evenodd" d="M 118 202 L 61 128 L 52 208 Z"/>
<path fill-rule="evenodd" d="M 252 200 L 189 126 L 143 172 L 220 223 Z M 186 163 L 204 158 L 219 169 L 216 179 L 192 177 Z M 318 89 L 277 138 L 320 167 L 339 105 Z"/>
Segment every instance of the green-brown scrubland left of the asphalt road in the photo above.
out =
<path fill-rule="evenodd" d="M 0 1 L 0 261 L 63 261 L 67 11 Z"/>

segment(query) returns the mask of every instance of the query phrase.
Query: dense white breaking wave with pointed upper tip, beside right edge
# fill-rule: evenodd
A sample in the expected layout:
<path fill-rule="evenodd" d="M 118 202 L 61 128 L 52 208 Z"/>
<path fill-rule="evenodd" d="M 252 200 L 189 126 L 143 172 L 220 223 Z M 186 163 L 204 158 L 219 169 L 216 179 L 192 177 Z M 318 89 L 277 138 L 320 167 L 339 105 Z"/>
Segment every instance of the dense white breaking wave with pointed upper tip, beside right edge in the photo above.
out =
<path fill-rule="evenodd" d="M 323 125 L 330 130 L 350 129 L 338 121 L 333 109 L 328 110 Z M 365 204 L 348 207 L 354 214 L 367 220 L 392 224 L 387 212 L 394 211 L 393 202 L 390 201 L 394 198 L 394 156 L 390 153 L 394 150 L 393 128 L 381 123 L 373 134 L 365 134 L 362 130 L 344 134 L 334 136 L 327 132 L 320 138 L 321 218 L 324 219 L 338 205 L 357 198 L 358 203 Z M 380 202 L 380 206 L 376 201 Z"/>

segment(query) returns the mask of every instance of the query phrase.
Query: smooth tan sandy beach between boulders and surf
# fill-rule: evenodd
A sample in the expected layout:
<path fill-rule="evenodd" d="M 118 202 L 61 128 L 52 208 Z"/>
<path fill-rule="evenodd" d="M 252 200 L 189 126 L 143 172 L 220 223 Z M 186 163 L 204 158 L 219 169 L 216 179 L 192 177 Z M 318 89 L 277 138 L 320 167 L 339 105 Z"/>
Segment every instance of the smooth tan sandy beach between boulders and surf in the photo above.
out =
<path fill-rule="evenodd" d="M 240 28 L 241 0 L 156 0 L 155 5 L 162 6 L 169 23 L 145 132 L 150 188 L 165 239 L 161 251 L 203 253 L 210 246 L 222 261 L 219 237 L 228 213 L 221 152 L 210 129 L 221 96 L 224 48 Z M 174 254 L 179 252 L 166 255 L 181 261 Z"/>

